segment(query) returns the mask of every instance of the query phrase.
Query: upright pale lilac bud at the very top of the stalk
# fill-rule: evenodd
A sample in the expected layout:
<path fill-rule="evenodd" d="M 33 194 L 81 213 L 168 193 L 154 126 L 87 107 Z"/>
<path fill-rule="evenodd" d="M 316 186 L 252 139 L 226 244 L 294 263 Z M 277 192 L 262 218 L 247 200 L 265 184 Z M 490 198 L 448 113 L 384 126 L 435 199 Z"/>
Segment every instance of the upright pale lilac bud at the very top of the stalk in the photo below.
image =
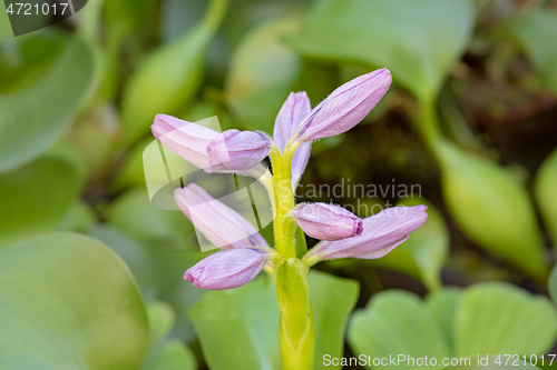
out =
<path fill-rule="evenodd" d="M 296 131 L 302 120 L 310 113 L 311 109 L 310 98 L 307 98 L 305 91 L 291 92 L 289 94 L 278 114 L 276 114 L 273 129 L 273 140 L 278 149 L 281 149 L 281 152 L 284 150 L 284 146 L 286 146 L 290 137 Z"/>

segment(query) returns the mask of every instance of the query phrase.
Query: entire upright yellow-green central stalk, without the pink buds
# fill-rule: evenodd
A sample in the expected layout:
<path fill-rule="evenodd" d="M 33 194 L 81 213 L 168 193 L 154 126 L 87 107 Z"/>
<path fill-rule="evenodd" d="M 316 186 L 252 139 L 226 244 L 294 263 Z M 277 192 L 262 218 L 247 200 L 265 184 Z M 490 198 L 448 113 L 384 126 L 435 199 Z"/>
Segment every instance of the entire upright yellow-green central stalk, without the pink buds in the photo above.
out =
<path fill-rule="evenodd" d="M 296 258 L 296 230 L 293 217 L 294 192 L 292 191 L 291 163 L 294 150 L 283 154 L 278 148 L 271 149 L 273 162 L 274 238 L 275 248 L 283 259 L 275 261 L 274 282 L 281 309 L 278 336 L 284 370 L 311 370 L 315 348 L 313 311 L 310 301 L 310 267 Z M 300 237 L 299 237 L 300 239 Z M 305 247 L 299 241 L 297 254 Z"/>

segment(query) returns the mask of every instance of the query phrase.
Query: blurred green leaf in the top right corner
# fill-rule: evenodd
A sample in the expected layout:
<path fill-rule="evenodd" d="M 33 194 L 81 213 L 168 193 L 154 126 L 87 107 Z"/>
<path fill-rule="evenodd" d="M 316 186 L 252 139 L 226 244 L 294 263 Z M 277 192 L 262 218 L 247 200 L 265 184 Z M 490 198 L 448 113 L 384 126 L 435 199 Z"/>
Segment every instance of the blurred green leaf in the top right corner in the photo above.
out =
<path fill-rule="evenodd" d="M 531 60 L 544 84 L 557 92 L 557 13 L 543 8 L 520 14 L 498 30 Z"/>

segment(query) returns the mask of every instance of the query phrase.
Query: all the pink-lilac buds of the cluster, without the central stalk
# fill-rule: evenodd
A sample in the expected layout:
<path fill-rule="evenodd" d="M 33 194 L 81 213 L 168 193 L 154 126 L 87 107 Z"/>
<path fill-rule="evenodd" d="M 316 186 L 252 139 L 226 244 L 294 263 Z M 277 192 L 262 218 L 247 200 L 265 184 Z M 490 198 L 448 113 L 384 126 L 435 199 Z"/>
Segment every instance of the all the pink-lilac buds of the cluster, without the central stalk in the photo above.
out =
<path fill-rule="evenodd" d="M 252 176 L 267 189 L 273 187 L 273 180 L 268 179 L 277 174 L 271 174 L 262 160 L 270 154 L 273 159 L 275 153 L 276 158 L 289 161 L 289 188 L 295 188 L 307 164 L 311 142 L 358 124 L 383 98 L 391 81 L 387 69 L 360 76 L 338 88 L 313 110 L 305 92 L 291 93 L 276 117 L 273 139 L 252 131 L 218 133 L 164 114 L 155 118 L 153 133 L 164 146 L 208 173 Z M 273 189 L 268 190 L 273 197 Z M 278 248 L 270 248 L 248 221 L 197 184 L 176 189 L 175 199 L 195 228 L 222 249 L 186 271 L 184 279 L 195 287 L 236 288 L 254 279 L 265 266 L 272 269 L 274 261 L 284 260 Z M 423 224 L 426 210 L 426 206 L 397 207 L 362 220 L 338 206 L 294 207 L 292 200 L 283 217 L 294 228 L 322 240 L 302 259 L 310 267 L 335 258 L 380 258 Z"/>

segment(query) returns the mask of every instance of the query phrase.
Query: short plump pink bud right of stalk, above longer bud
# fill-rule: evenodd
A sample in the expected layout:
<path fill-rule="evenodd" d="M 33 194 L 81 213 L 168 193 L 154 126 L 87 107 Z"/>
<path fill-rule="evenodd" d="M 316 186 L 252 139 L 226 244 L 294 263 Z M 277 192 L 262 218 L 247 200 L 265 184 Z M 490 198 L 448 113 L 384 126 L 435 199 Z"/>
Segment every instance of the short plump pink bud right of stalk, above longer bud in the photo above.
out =
<path fill-rule="evenodd" d="M 362 233 L 362 219 L 342 207 L 328 203 L 303 203 L 292 210 L 296 223 L 306 234 L 320 240 L 341 240 Z"/>

